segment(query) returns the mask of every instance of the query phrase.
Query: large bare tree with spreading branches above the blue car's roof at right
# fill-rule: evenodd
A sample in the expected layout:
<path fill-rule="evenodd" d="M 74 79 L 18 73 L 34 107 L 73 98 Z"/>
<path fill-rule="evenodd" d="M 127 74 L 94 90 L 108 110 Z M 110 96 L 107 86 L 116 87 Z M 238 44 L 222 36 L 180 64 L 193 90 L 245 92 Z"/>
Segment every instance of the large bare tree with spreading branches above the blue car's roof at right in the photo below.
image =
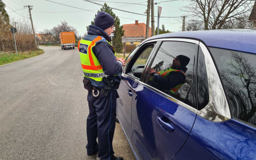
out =
<path fill-rule="evenodd" d="M 208 29 L 223 29 L 227 23 L 238 19 L 246 22 L 254 1 L 252 0 L 188 0 L 182 11 L 187 12 L 189 21 Z M 243 17 L 244 19 L 241 19 Z M 239 19 L 240 18 L 240 19 Z"/>

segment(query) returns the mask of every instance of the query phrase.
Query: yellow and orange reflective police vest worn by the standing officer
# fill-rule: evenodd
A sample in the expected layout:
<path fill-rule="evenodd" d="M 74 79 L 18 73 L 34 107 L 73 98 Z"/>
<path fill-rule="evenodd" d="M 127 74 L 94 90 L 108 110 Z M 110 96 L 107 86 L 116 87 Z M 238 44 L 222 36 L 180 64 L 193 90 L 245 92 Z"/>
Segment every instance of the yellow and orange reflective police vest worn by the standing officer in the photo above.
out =
<path fill-rule="evenodd" d="M 104 37 L 98 35 L 87 34 L 82 40 L 78 42 L 78 50 L 80 53 L 81 65 L 84 72 L 84 77 L 94 79 L 95 81 L 102 81 L 103 77 L 107 77 L 103 72 L 103 68 L 100 65 L 99 60 L 93 53 L 93 47 L 99 42 L 107 42 Z M 113 49 L 113 54 L 115 55 L 114 47 L 109 43 Z"/>

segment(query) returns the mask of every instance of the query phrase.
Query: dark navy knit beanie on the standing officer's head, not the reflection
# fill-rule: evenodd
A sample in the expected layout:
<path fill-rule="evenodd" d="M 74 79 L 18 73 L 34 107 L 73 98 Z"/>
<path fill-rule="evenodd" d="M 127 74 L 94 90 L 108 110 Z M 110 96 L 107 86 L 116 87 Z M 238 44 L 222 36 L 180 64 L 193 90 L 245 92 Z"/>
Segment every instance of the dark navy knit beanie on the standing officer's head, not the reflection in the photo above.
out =
<path fill-rule="evenodd" d="M 103 30 L 113 26 L 114 24 L 114 18 L 110 14 L 103 11 L 98 12 L 94 19 L 94 26 L 100 27 Z"/>

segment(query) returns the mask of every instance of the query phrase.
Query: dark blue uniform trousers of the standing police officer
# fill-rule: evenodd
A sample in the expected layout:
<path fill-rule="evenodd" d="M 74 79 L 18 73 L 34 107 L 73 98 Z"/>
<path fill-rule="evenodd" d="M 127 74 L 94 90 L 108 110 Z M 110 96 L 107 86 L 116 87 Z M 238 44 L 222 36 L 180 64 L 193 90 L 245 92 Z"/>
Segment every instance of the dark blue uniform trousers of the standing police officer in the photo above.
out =
<path fill-rule="evenodd" d="M 98 157 L 101 160 L 111 160 L 114 158 L 112 141 L 116 122 L 116 90 L 112 90 L 107 97 L 101 93 L 98 97 L 94 97 L 93 92 L 89 91 L 87 101 L 89 102 L 86 125 L 87 153 L 93 154 L 98 148 Z"/>

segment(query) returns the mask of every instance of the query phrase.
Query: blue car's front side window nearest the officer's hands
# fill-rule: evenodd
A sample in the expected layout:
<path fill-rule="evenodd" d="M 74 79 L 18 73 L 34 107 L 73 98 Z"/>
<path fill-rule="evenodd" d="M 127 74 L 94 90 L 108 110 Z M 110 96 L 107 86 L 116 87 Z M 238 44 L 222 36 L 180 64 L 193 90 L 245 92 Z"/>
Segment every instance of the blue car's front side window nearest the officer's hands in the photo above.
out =
<path fill-rule="evenodd" d="M 145 64 L 154 48 L 155 44 L 149 44 L 142 46 L 143 48 L 136 53 L 132 57 L 132 65 L 129 65 L 130 71 L 127 73 L 128 75 L 140 79 L 142 76 L 142 71 L 144 70 Z M 131 66 L 131 67 L 130 67 Z"/>

